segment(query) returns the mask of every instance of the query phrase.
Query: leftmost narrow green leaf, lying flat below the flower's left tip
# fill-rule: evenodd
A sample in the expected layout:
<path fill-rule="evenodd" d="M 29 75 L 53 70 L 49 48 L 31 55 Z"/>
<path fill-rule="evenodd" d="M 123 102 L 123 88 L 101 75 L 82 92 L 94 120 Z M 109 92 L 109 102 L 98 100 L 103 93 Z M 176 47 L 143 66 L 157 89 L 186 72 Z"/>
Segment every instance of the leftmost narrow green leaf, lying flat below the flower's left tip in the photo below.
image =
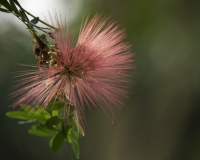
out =
<path fill-rule="evenodd" d="M 33 120 L 34 117 L 29 116 L 26 112 L 22 111 L 10 111 L 6 112 L 6 116 L 14 119 L 21 119 L 21 120 Z"/>

